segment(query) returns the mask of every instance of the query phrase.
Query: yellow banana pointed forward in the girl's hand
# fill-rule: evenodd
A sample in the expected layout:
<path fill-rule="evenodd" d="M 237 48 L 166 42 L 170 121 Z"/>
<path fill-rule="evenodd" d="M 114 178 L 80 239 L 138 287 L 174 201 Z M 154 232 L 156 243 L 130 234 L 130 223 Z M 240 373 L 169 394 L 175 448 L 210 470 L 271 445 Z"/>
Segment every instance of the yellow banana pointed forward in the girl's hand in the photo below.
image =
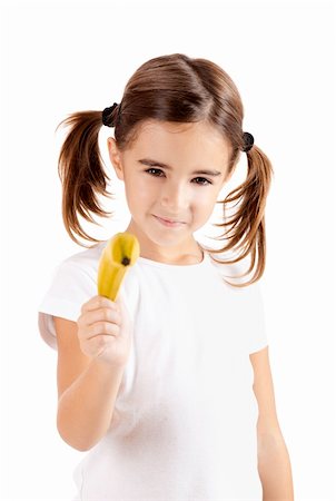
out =
<path fill-rule="evenodd" d="M 116 301 L 127 271 L 139 255 L 140 245 L 135 235 L 125 232 L 110 238 L 98 265 L 98 294 Z"/>

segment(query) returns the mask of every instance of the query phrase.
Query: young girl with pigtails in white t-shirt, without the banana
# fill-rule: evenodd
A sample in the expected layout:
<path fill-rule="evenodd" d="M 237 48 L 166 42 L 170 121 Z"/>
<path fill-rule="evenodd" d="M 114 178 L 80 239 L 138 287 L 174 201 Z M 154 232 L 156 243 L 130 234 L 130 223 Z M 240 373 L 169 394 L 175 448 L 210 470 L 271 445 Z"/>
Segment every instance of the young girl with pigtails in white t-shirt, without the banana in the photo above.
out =
<path fill-rule="evenodd" d="M 77 499 L 293 500 L 257 285 L 273 170 L 241 129 L 235 84 L 209 60 L 157 57 L 137 69 L 119 104 L 65 122 L 63 222 L 75 242 L 95 244 L 55 271 L 39 328 L 58 351 L 58 431 L 89 451 L 75 472 Z M 131 214 L 122 230 L 140 244 L 116 302 L 97 295 L 107 240 L 90 238 L 79 220 L 107 215 L 102 125 L 115 128 L 108 151 Z M 218 202 L 240 151 L 247 179 Z M 216 225 L 226 245 L 206 248 L 194 233 L 216 203 L 230 202 L 236 213 Z M 236 258 L 220 258 L 227 250 Z"/>

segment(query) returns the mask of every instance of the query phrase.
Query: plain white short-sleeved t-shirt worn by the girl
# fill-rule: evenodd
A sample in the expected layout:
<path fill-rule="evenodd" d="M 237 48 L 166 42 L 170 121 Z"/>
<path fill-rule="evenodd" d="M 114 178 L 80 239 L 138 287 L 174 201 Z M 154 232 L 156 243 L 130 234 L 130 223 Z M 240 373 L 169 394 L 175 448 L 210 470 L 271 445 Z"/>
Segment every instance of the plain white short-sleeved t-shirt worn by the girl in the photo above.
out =
<path fill-rule="evenodd" d="M 77 321 L 97 295 L 106 243 L 65 259 L 39 307 Z M 81 501 L 259 501 L 258 406 L 249 354 L 264 348 L 258 284 L 233 287 L 205 252 L 194 265 L 139 257 L 120 294 L 134 341 L 107 434 L 75 471 Z"/>

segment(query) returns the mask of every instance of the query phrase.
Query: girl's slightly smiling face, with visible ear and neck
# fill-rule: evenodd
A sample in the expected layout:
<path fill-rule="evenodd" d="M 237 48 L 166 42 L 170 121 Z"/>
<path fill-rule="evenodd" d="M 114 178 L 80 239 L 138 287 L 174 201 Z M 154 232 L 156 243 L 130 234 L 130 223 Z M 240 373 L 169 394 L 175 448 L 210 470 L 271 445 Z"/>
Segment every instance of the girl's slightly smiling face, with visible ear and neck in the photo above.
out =
<path fill-rule="evenodd" d="M 224 137 L 204 122 L 148 120 L 129 149 L 119 151 L 113 138 L 108 147 L 131 214 L 126 230 L 138 237 L 141 256 L 190 262 L 191 254 L 199 261 L 192 234 L 211 216 L 227 181 L 230 147 Z"/>

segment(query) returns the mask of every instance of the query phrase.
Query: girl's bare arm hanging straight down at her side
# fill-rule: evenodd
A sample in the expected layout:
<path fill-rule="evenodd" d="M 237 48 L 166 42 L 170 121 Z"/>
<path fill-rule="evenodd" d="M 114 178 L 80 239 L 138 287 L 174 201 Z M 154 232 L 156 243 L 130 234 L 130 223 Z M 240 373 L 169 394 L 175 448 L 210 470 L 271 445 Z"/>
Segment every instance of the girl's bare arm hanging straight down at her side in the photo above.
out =
<path fill-rule="evenodd" d="M 278 423 L 268 347 L 249 355 L 254 367 L 254 392 L 258 402 L 258 472 L 263 501 L 293 501 L 289 454 Z"/>

